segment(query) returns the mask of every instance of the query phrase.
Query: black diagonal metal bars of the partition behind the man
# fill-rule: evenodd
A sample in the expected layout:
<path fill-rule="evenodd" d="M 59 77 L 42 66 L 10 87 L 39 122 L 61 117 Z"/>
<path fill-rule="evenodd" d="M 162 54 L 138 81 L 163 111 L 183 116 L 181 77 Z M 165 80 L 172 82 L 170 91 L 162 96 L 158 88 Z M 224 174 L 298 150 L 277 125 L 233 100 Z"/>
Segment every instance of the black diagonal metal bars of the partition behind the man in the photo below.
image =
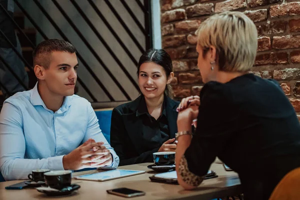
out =
<path fill-rule="evenodd" d="M 37 22 L 34 21 L 33 17 L 30 16 L 28 11 L 20 4 L 19 0 L 13 0 L 14 3 L 19 7 L 19 9 L 22 11 L 24 16 L 30 21 L 30 23 L 34 26 L 36 31 L 42 36 L 43 39 L 48 39 L 49 37 L 45 34 L 45 32 L 42 31 L 42 29 L 38 26 Z M 58 34 L 66 41 L 70 41 L 68 37 L 63 33 L 63 31 L 60 29 L 60 27 L 55 23 L 53 18 L 50 16 L 50 14 L 47 12 L 47 10 L 40 4 L 38 0 L 32 0 L 37 8 L 43 13 L 43 15 L 47 18 L 47 20 L 53 25 L 54 29 L 58 32 Z M 101 57 L 97 54 L 97 52 L 93 49 L 91 44 L 87 41 L 87 39 L 84 37 L 84 35 L 81 33 L 79 28 L 74 24 L 72 19 L 67 15 L 65 10 L 60 6 L 60 4 L 57 2 L 57 0 L 51 0 L 53 4 L 56 6 L 56 8 L 59 10 L 59 12 L 62 14 L 62 16 L 65 18 L 65 20 L 68 22 L 70 27 L 76 32 L 76 34 L 79 36 L 81 41 L 85 44 L 89 52 L 95 57 L 95 59 L 98 61 L 98 63 L 103 67 L 105 72 L 109 75 L 109 77 L 113 80 L 115 85 L 120 89 L 122 94 L 126 97 L 127 100 L 132 100 L 127 93 L 126 89 L 123 85 L 117 80 L 115 75 L 109 70 L 107 65 L 103 62 Z M 81 9 L 81 7 L 77 4 L 75 0 L 69 0 L 70 3 L 74 6 L 74 8 L 77 10 L 77 12 L 80 14 L 80 16 L 84 19 L 88 27 L 93 31 L 93 33 L 96 35 L 96 37 L 101 41 L 105 49 L 108 51 L 108 53 L 111 55 L 111 57 L 114 59 L 114 61 L 117 63 L 117 66 L 124 72 L 128 80 L 132 83 L 134 86 L 134 89 L 138 90 L 138 85 L 134 78 L 132 76 L 135 76 L 135 74 L 130 74 L 129 71 L 126 69 L 124 64 L 121 62 L 121 60 L 116 56 L 114 51 L 111 49 L 109 44 L 103 39 L 99 31 L 97 31 L 96 27 L 93 25 L 91 20 L 87 17 L 87 15 L 84 13 L 84 11 Z M 115 30 L 111 27 L 108 20 L 104 17 L 104 15 L 101 13 L 99 8 L 96 6 L 96 4 L 92 0 L 87 0 L 93 10 L 96 12 L 97 16 L 103 21 L 105 26 L 108 28 L 108 30 L 111 32 L 111 36 L 116 39 L 118 44 L 122 47 L 122 49 L 125 51 L 126 55 L 130 58 L 130 60 L 134 63 L 134 65 L 137 65 L 137 60 L 134 58 L 133 54 L 130 52 L 128 47 L 123 43 L 123 41 L 120 39 L 118 34 L 115 32 Z M 139 30 L 142 32 L 142 34 L 145 36 L 145 44 L 143 44 L 146 48 L 142 47 L 142 45 L 138 42 L 137 38 L 134 36 L 132 31 L 128 28 L 124 20 L 121 18 L 121 16 L 117 13 L 116 9 L 113 7 L 111 2 L 109 0 L 104 0 L 104 2 L 109 7 L 110 11 L 113 13 L 113 15 L 117 18 L 121 26 L 125 29 L 126 33 L 129 35 L 129 37 L 132 39 L 133 43 L 136 45 L 138 50 L 140 51 L 140 54 L 145 51 L 145 49 L 151 47 L 151 17 L 150 17 L 150 0 L 144 0 L 144 4 L 142 4 L 139 0 L 135 0 L 134 2 L 137 3 L 138 7 L 143 11 L 144 13 L 144 19 L 145 19 L 145 27 L 142 26 L 142 24 L 138 21 L 137 17 L 134 15 L 133 11 L 130 9 L 128 4 L 125 0 L 120 0 L 121 4 L 124 6 L 125 10 L 128 12 L 128 14 L 132 17 L 134 23 L 136 23 Z M 9 20 L 14 24 L 15 28 L 18 30 L 18 32 L 28 41 L 30 47 L 32 49 L 35 47 L 35 45 L 32 43 L 32 41 L 27 37 L 27 35 L 23 32 L 22 28 L 18 26 L 16 21 L 9 15 L 7 10 L 3 7 L 3 5 L 0 4 L 0 10 L 5 13 L 5 15 L 9 18 Z M 13 51 L 16 53 L 16 55 L 24 62 L 25 66 L 29 68 L 31 72 L 33 72 L 33 66 L 31 66 L 28 61 L 26 61 L 22 55 L 17 51 L 17 49 L 14 47 L 11 41 L 5 36 L 3 31 L 0 30 L 0 36 L 4 38 L 9 46 L 13 49 Z M 108 91 L 108 89 L 104 86 L 103 82 L 97 77 L 97 75 L 94 73 L 92 68 L 87 64 L 86 60 L 83 58 L 83 56 L 76 52 L 76 55 L 78 59 L 81 61 L 82 65 L 86 68 L 88 73 L 92 76 L 92 78 L 95 80 L 95 82 L 100 86 L 100 88 L 103 90 L 103 92 L 107 95 L 109 98 L 109 102 L 118 101 L 115 99 L 111 92 Z M 3 64 L 7 67 L 7 69 L 12 73 L 12 75 L 17 79 L 20 85 L 22 85 L 25 89 L 28 89 L 26 85 L 21 81 L 21 79 L 13 72 L 11 67 L 5 62 L 4 58 L 0 56 L 0 60 L 3 62 Z M 84 84 L 82 79 L 80 78 L 80 74 L 77 77 L 78 82 L 82 86 L 82 88 L 86 91 L 86 93 L 90 96 L 92 99 L 92 102 L 98 102 L 95 96 L 92 94 L 90 89 Z M 0 80 L 1 81 L 1 80 Z M 1 88 L 5 90 L 5 92 L 10 95 L 7 88 L 0 82 Z M 131 88 L 130 88 L 131 89 Z"/>

